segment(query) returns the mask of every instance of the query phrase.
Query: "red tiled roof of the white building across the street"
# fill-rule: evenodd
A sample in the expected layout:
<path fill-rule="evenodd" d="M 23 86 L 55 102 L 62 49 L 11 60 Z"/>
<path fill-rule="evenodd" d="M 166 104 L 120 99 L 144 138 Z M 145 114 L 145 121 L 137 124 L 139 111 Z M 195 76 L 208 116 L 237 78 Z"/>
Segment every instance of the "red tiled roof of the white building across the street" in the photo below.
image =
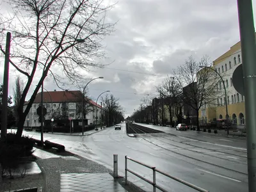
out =
<path fill-rule="evenodd" d="M 34 103 L 40 103 L 41 102 L 41 95 L 42 92 L 36 94 L 36 99 L 34 100 Z M 54 91 L 54 92 L 43 92 L 43 102 L 81 102 L 82 100 L 82 93 L 81 91 Z M 97 106 L 98 108 L 101 108 L 99 104 L 96 105 L 96 102 L 93 100 L 90 100 L 86 98 L 88 102 L 90 102 L 93 106 Z M 25 105 L 28 104 L 28 102 L 25 102 Z"/>

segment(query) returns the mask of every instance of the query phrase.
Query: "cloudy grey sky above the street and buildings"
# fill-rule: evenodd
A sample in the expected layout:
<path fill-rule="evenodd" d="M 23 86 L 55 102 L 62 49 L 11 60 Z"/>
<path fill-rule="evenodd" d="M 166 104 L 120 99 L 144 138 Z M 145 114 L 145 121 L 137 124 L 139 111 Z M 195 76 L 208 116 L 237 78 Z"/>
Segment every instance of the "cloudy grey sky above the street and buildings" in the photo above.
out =
<path fill-rule="evenodd" d="M 155 86 L 172 76 L 173 68 L 188 56 L 198 59 L 207 54 L 215 60 L 239 41 L 236 0 L 119 0 L 108 19 L 118 23 L 113 35 L 104 40 L 108 59 L 102 64 L 114 62 L 94 68 L 88 76 L 104 79 L 88 88 L 92 99 L 110 90 L 119 98 L 125 116 L 138 108 L 143 97 L 156 95 Z M 3 62 L 0 67 L 3 83 Z M 15 75 L 10 76 L 10 95 Z M 59 90 L 51 80 L 45 88 Z"/>

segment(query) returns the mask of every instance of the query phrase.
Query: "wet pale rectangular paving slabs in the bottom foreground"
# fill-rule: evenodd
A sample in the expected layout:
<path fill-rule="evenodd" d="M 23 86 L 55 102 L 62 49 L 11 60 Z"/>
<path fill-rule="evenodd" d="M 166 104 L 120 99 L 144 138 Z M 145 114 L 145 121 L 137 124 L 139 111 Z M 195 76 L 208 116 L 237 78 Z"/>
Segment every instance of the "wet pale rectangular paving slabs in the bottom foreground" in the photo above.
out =
<path fill-rule="evenodd" d="M 60 192 L 126 191 L 109 173 L 62 173 Z"/>

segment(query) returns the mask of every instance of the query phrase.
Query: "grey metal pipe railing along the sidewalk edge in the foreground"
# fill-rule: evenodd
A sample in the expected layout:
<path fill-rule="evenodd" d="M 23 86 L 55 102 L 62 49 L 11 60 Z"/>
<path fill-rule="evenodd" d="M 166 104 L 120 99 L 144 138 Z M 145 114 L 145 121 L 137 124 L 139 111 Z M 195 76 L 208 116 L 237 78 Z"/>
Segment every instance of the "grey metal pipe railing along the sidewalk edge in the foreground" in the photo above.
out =
<path fill-rule="evenodd" d="M 138 173 L 135 173 L 135 172 L 132 172 L 132 170 L 129 170 L 127 168 L 127 159 L 129 159 L 130 161 L 133 161 L 135 163 L 141 164 L 143 166 L 146 166 L 147 168 L 152 169 L 152 171 L 153 171 L 153 181 L 145 179 L 144 177 L 142 177 Z M 140 161 L 136 161 L 136 160 L 132 159 L 131 157 L 125 156 L 125 184 L 127 184 L 127 172 L 130 172 L 133 175 L 139 177 L 140 179 L 145 180 L 149 184 L 152 184 L 154 192 L 156 192 L 156 189 L 160 189 L 161 191 L 168 192 L 166 189 L 163 189 L 161 186 L 158 186 L 156 184 L 156 172 L 161 173 L 162 175 L 164 175 L 166 177 L 169 177 L 170 179 L 176 180 L 177 182 L 180 182 L 180 183 L 182 183 L 182 184 L 184 184 L 186 186 L 189 186 L 189 188 L 196 189 L 197 191 L 200 191 L 200 192 L 209 192 L 209 191 L 207 191 L 205 189 L 202 189 L 202 188 L 199 188 L 198 186 L 195 186 L 195 185 L 193 185 L 193 184 L 191 184 L 189 182 L 186 182 L 185 180 L 182 180 L 182 179 L 179 179 L 177 177 L 173 177 L 172 175 L 168 175 L 167 173 L 161 172 L 161 170 L 156 169 L 155 166 L 149 166 L 147 164 L 141 163 Z"/>

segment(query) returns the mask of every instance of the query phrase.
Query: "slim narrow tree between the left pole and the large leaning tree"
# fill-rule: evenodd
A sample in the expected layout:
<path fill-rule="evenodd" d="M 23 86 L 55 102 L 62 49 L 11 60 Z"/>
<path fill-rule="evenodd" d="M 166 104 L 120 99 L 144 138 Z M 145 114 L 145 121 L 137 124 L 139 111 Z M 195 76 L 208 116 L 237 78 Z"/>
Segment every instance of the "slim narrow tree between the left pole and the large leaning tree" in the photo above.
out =
<path fill-rule="evenodd" d="M 23 89 L 24 83 L 22 79 L 18 76 L 15 79 L 15 88 L 13 88 L 14 116 L 16 122 L 19 122 L 18 108 L 20 106 L 20 99 L 22 97 Z"/>

